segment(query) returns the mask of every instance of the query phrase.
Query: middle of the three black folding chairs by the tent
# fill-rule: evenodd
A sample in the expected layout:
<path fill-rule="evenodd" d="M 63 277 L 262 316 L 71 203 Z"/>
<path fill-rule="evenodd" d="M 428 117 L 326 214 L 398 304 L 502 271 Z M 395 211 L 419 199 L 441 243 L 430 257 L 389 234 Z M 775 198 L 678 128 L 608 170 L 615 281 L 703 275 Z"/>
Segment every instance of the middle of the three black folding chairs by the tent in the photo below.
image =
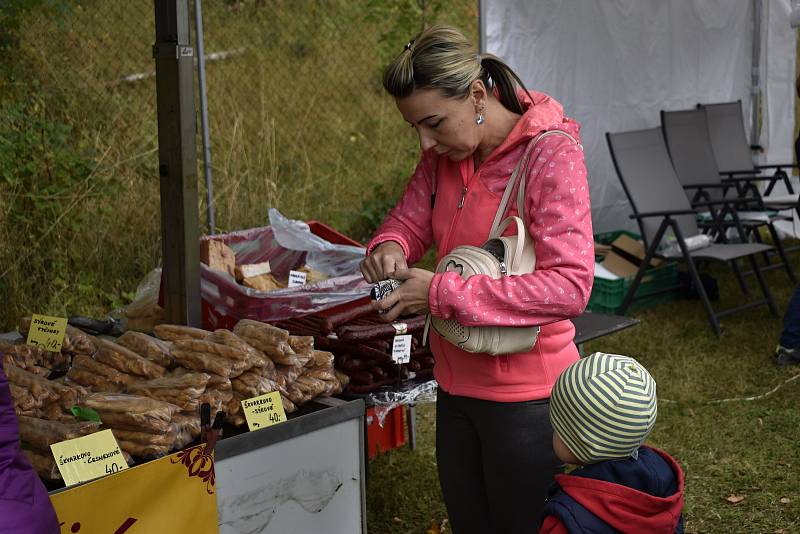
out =
<path fill-rule="evenodd" d="M 718 230 L 722 240 L 725 241 L 726 227 L 734 226 L 743 242 L 747 241 L 748 234 L 761 242 L 759 228 L 765 226 L 780 257 L 780 262 L 772 264 L 769 254 L 765 253 L 764 260 L 767 264 L 765 269 L 783 267 L 789 280 L 796 284 L 794 269 L 786 257 L 783 243 L 773 225 L 774 220 L 785 217 L 767 211 L 758 188 L 747 181 L 751 177 L 724 178 L 720 174 L 709 136 L 705 110 L 697 108 L 662 111 L 661 127 L 664 130 L 664 138 L 675 172 L 681 185 L 687 189 L 692 204 L 695 205 L 698 200 L 730 200 L 728 213 L 722 213 L 721 217 L 715 217 L 711 210 L 712 218 L 718 220 Z M 731 210 L 734 213 L 731 213 Z"/>

